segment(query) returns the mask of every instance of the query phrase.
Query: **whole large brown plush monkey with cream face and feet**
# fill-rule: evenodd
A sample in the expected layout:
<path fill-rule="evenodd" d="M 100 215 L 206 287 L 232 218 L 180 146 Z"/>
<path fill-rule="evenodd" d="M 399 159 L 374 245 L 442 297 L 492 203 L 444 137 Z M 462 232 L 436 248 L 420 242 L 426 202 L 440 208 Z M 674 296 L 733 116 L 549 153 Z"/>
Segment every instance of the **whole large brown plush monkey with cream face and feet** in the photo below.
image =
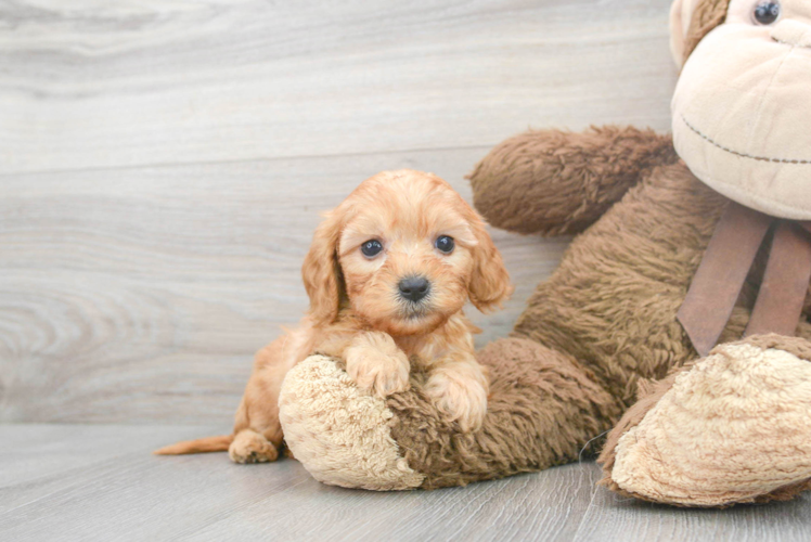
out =
<path fill-rule="evenodd" d="M 671 24 L 675 146 L 529 132 L 471 176 L 493 225 L 579 234 L 478 354 L 484 427 L 441 422 L 421 375 L 383 400 L 311 357 L 280 409 L 313 476 L 464 485 L 574 461 L 612 429 L 603 483 L 622 494 L 728 506 L 811 489 L 811 250 L 806 223 L 783 220 L 811 219 L 811 1 L 675 0 Z"/>

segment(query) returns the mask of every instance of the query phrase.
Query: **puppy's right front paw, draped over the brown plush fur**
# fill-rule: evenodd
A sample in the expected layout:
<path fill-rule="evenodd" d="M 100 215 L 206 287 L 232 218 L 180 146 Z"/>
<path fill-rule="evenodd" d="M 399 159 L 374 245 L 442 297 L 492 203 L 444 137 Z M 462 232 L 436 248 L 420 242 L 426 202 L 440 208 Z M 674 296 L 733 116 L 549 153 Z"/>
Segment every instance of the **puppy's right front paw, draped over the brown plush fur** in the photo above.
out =
<path fill-rule="evenodd" d="M 476 370 L 438 369 L 425 386 L 425 391 L 450 422 L 459 422 L 464 433 L 481 427 L 487 414 L 487 379 Z"/>

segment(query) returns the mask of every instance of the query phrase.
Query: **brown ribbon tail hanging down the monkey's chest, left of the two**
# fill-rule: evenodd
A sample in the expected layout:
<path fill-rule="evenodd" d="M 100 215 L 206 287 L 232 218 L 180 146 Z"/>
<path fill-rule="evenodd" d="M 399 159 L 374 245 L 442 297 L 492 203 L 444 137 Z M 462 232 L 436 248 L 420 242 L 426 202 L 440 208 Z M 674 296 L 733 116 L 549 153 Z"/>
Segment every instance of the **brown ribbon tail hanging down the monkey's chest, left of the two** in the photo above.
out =
<path fill-rule="evenodd" d="M 700 356 L 718 343 L 755 256 L 775 219 L 730 202 L 677 318 Z"/>

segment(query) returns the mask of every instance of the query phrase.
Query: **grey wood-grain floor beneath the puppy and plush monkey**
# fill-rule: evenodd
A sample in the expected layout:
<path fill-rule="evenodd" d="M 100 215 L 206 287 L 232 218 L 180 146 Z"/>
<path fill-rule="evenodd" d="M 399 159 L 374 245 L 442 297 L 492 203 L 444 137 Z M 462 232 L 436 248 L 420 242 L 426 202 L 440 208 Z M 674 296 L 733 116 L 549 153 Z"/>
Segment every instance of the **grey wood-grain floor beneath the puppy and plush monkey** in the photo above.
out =
<path fill-rule="evenodd" d="M 800 542 L 811 499 L 703 511 L 621 499 L 592 462 L 435 491 L 323 486 L 295 461 L 149 451 L 228 426 L 0 425 L 0 539 Z"/>

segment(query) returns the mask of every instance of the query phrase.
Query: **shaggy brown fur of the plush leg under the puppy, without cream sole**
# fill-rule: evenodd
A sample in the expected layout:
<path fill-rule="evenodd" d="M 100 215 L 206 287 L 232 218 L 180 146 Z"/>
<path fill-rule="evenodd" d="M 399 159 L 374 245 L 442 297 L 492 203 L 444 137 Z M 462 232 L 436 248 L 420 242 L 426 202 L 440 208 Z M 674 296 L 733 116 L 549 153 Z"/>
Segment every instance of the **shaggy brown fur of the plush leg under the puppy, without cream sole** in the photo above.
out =
<path fill-rule="evenodd" d="M 445 424 L 419 377 L 411 392 L 388 399 L 391 436 L 409 465 L 425 475 L 423 488 L 570 463 L 620 414 L 575 360 L 537 343 L 498 340 L 478 359 L 490 370 L 491 386 L 485 425 L 475 434 Z"/>

